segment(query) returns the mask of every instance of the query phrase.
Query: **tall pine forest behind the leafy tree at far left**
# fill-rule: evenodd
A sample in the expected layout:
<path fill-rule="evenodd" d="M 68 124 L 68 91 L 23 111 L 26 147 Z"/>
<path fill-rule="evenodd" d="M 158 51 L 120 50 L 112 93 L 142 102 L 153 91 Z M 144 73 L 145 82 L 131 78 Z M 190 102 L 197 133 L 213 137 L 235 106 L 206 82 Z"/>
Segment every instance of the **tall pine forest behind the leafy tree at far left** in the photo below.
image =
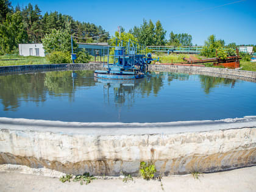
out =
<path fill-rule="evenodd" d="M 52 29 L 66 30 L 77 37 L 85 37 L 86 39 L 79 40 L 81 43 L 107 42 L 109 38 L 109 34 L 101 26 L 93 23 L 81 23 L 73 20 L 72 16 L 59 12 L 46 12 L 41 15 L 38 5 L 30 3 L 24 8 L 18 4 L 13 10 L 10 1 L 0 0 L 0 23 L 6 20 L 7 15 L 16 12 L 21 12 L 27 33 L 27 38 L 22 43 L 41 43 L 44 35 L 51 34 Z"/>

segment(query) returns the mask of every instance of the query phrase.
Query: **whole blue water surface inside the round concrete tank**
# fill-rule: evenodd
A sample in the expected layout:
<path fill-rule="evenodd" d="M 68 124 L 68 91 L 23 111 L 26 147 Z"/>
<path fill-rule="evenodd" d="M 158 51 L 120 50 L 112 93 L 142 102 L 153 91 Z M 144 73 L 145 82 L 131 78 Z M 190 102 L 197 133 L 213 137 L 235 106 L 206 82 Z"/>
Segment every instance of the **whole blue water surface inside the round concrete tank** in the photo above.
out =
<path fill-rule="evenodd" d="M 0 116 L 144 123 L 256 115 L 253 82 L 181 73 L 108 82 L 75 72 L 0 76 Z"/>

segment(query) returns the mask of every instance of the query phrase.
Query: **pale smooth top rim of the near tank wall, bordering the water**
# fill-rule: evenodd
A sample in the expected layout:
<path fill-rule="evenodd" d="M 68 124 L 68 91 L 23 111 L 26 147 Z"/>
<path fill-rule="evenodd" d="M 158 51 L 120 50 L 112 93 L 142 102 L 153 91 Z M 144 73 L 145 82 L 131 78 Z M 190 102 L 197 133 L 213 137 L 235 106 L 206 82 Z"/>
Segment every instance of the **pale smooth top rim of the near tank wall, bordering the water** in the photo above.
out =
<path fill-rule="evenodd" d="M 68 135 L 153 135 L 256 127 L 256 116 L 244 118 L 176 121 L 167 123 L 81 123 L 0 117 L 0 129 L 34 130 Z"/>

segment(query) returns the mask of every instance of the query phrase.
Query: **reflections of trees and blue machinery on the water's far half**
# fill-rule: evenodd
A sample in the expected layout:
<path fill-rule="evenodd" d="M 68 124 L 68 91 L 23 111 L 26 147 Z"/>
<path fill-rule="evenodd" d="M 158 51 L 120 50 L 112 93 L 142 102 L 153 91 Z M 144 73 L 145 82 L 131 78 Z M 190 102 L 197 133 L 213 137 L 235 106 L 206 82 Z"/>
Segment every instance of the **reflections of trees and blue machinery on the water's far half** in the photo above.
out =
<path fill-rule="evenodd" d="M 0 76 L 0 99 L 4 111 L 15 111 L 23 101 L 38 104 L 45 102 L 48 97 L 68 96 L 69 102 L 75 102 L 74 93 L 77 91 L 102 86 L 104 102 L 113 102 L 116 107 L 123 104 L 132 107 L 139 97 L 157 97 L 166 86 L 176 86 L 172 83 L 174 80 L 186 81 L 193 78 L 199 79 L 205 94 L 219 85 L 235 87 L 236 82 L 221 77 L 157 72 L 149 73 L 144 79 L 120 81 L 94 79 L 93 71 L 53 71 Z"/>

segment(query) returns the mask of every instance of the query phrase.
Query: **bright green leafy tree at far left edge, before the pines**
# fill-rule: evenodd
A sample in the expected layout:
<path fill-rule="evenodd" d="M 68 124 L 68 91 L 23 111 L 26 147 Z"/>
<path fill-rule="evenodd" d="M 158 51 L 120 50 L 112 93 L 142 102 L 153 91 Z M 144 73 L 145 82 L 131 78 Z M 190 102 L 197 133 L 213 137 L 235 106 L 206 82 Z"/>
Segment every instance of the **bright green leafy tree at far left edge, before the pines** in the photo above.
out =
<path fill-rule="evenodd" d="M 7 15 L 0 23 L 0 54 L 18 54 L 18 44 L 27 39 L 21 12 Z"/>

